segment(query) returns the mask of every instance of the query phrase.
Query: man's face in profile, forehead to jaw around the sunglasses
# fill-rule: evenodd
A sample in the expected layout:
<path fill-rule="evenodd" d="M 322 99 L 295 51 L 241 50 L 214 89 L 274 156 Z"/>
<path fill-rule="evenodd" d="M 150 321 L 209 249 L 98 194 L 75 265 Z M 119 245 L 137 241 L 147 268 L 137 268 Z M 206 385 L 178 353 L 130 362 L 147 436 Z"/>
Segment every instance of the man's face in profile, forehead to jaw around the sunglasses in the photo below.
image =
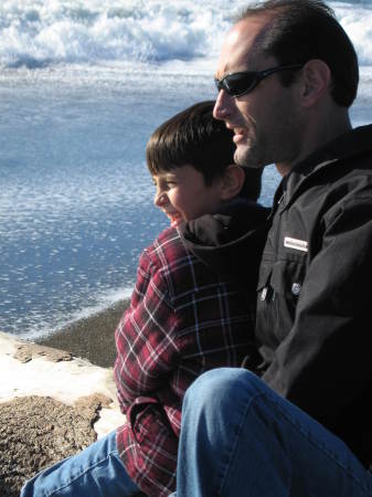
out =
<path fill-rule="evenodd" d="M 279 64 L 259 53 L 257 36 L 269 19 L 257 15 L 233 27 L 222 46 L 216 78 L 241 71 L 263 71 Z M 214 117 L 234 130 L 235 161 L 241 166 L 264 167 L 277 163 L 289 169 L 296 159 L 301 136 L 301 114 L 296 101 L 296 84 L 284 87 L 278 73 L 264 80 L 249 93 L 231 96 L 220 91 Z"/>

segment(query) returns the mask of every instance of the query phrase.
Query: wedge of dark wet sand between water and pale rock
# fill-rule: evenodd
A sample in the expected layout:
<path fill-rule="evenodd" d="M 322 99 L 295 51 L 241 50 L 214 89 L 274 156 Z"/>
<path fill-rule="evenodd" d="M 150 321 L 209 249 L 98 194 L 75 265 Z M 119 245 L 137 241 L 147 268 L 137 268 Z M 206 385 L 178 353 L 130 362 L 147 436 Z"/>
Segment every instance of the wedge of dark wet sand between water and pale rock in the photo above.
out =
<path fill-rule="evenodd" d="M 129 302 L 118 300 L 100 313 L 78 319 L 33 341 L 66 350 L 73 356 L 88 359 L 93 364 L 111 368 L 116 358 L 115 329 Z"/>

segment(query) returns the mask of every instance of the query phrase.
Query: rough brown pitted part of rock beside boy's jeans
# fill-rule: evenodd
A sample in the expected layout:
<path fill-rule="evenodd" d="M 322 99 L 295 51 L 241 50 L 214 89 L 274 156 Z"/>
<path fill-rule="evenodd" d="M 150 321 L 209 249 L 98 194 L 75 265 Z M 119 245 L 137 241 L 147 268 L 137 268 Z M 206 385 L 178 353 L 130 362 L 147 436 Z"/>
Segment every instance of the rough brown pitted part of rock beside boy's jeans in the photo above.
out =
<path fill-rule="evenodd" d="M 0 495 L 19 495 L 23 482 L 95 442 L 91 417 L 50 396 L 0 404 Z"/>

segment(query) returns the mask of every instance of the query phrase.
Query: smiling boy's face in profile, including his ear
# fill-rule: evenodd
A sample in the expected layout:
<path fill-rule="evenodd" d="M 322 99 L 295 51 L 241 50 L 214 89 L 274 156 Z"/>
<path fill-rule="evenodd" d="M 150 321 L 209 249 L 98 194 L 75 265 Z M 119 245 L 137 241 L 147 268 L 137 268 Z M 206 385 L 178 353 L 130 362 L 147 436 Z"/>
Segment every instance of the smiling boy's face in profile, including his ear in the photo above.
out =
<path fill-rule="evenodd" d="M 152 177 L 157 187 L 155 204 L 176 226 L 203 214 L 216 212 L 221 205 L 222 178 L 205 186 L 203 175 L 185 165 Z"/>

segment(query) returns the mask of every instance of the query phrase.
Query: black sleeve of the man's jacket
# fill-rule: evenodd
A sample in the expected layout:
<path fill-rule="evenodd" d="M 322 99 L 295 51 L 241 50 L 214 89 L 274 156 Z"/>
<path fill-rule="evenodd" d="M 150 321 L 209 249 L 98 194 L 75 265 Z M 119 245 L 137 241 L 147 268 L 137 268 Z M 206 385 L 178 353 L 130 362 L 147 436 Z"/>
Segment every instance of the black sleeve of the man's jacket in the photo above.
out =
<path fill-rule="evenodd" d="M 370 192 L 359 194 L 323 218 L 294 326 L 263 376 L 326 426 L 362 399 L 372 378 L 372 202 Z"/>

